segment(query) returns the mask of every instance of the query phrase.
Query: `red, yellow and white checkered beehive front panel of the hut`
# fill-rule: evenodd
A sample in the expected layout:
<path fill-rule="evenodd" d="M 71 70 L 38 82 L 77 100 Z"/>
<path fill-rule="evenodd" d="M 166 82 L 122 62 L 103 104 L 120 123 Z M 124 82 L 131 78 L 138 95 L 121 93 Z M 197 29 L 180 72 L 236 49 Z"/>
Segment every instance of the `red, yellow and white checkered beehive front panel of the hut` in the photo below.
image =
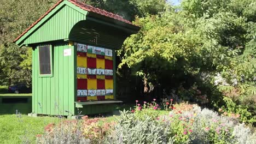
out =
<path fill-rule="evenodd" d="M 77 44 L 77 100 L 114 99 L 113 85 L 113 51 Z"/>

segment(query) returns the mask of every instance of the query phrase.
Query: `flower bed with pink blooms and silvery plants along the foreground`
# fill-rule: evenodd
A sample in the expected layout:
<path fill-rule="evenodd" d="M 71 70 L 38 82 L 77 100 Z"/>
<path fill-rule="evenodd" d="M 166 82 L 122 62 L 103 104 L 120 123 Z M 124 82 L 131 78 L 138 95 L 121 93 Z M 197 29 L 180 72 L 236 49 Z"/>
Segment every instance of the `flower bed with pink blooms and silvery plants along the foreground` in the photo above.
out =
<path fill-rule="evenodd" d="M 188 103 L 165 101 L 164 110 L 144 101 L 121 111 L 113 122 L 104 118 L 49 125 L 38 143 L 255 143 L 256 133 L 236 117 L 220 116 Z M 164 111 L 164 112 L 163 112 Z"/>

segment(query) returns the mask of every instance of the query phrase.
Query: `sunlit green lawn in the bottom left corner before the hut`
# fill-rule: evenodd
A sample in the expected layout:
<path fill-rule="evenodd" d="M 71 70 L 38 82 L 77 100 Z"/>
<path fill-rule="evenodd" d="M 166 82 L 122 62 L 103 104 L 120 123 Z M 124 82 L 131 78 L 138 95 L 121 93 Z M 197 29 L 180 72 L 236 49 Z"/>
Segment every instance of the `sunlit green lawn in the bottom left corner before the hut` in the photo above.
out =
<path fill-rule="evenodd" d="M 21 143 L 22 140 L 36 140 L 43 134 L 45 125 L 58 123 L 56 117 L 28 117 L 26 115 L 0 115 L 0 143 Z"/>

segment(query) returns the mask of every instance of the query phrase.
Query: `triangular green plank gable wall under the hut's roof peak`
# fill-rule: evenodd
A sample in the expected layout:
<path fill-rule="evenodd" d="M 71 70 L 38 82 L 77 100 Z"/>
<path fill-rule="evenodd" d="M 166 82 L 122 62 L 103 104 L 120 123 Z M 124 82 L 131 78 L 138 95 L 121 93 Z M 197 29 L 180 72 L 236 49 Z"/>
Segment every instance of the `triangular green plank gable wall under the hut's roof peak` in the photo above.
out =
<path fill-rule="evenodd" d="M 77 10 L 78 7 L 73 6 L 75 7 L 74 9 L 72 5 L 63 5 L 62 7 L 60 10 L 52 11 L 51 13 L 56 14 L 49 17 L 48 21 L 42 23 L 42 26 L 29 35 L 24 44 L 68 39 L 69 32 L 75 23 L 86 19 L 87 11 L 81 13 Z"/>

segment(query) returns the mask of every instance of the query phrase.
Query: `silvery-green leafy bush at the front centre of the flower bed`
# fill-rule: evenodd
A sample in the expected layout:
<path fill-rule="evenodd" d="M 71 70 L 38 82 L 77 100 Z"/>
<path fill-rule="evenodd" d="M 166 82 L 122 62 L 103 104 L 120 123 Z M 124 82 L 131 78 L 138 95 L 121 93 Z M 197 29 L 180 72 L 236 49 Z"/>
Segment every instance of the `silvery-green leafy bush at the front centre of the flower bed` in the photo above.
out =
<path fill-rule="evenodd" d="M 135 113 L 120 113 L 118 124 L 107 137 L 108 143 L 173 143 L 168 133 L 170 127 L 166 127 L 166 123 L 155 121 L 148 115 L 141 120 Z"/>

